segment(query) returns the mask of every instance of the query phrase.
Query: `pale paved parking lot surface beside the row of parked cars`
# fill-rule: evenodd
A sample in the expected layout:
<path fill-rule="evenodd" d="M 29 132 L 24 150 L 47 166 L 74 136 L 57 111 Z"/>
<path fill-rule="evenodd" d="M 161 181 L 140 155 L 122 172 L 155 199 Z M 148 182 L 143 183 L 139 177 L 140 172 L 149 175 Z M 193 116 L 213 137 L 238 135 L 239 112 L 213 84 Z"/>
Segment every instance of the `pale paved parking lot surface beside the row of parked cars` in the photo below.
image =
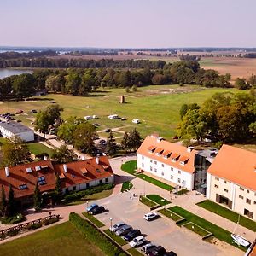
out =
<path fill-rule="evenodd" d="M 148 212 L 148 207 L 139 203 L 138 198 L 131 199 L 129 192 L 114 195 L 110 198 L 98 201 L 99 204 L 106 207 L 108 212 L 96 215 L 108 227 L 110 218 L 113 224 L 119 220 L 131 224 L 133 228 L 138 228 L 146 235 L 148 241 L 166 247 L 179 256 L 191 255 L 229 255 L 219 247 L 201 240 L 201 237 L 185 228 L 179 228 L 172 220 L 158 218 L 154 221 L 147 222 L 143 215 Z M 234 250 L 232 256 L 242 255 L 239 250 Z"/>

